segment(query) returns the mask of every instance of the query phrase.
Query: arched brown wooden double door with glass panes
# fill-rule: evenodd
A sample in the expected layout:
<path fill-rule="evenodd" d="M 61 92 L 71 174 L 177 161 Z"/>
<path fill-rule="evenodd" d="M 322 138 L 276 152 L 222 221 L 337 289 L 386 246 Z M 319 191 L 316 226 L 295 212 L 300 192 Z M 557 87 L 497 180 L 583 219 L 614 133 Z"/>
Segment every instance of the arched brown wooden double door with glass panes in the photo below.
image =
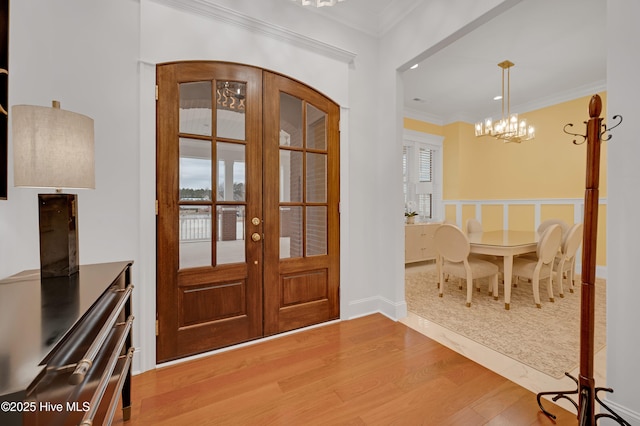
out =
<path fill-rule="evenodd" d="M 339 107 L 260 68 L 157 67 L 157 361 L 339 317 Z"/>

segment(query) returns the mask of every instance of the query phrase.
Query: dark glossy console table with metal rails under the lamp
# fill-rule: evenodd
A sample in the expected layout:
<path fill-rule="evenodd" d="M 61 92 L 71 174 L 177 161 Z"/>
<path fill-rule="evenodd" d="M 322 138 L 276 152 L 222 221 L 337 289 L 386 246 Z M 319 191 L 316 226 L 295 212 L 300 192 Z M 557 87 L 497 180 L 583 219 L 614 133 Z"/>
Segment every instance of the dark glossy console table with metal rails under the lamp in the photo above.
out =
<path fill-rule="evenodd" d="M 0 281 L 0 424 L 110 424 L 131 415 L 132 262 Z"/>

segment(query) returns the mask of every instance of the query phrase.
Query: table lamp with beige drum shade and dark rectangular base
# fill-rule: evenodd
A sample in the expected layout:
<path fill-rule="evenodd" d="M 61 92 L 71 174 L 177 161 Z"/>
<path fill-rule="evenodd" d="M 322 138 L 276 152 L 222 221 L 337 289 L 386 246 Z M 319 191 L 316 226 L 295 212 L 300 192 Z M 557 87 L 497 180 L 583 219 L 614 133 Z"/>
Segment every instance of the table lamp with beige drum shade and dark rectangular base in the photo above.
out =
<path fill-rule="evenodd" d="M 95 188 L 93 119 L 52 107 L 11 109 L 14 185 L 55 188 L 38 194 L 42 278 L 78 272 L 76 194 L 62 188 Z"/>

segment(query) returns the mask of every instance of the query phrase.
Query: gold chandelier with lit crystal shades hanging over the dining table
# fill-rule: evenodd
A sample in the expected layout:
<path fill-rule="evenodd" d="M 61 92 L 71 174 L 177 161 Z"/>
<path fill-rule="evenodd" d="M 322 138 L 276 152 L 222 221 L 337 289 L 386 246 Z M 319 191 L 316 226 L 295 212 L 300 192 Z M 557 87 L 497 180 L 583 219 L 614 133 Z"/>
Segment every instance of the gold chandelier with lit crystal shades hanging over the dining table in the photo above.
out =
<path fill-rule="evenodd" d="M 502 117 L 498 121 L 493 121 L 491 118 L 487 118 L 484 121 L 476 123 L 476 136 L 493 136 L 496 139 L 503 140 L 505 143 L 520 143 L 535 137 L 535 128 L 532 125 L 527 124 L 527 120 L 524 118 L 518 119 L 518 114 L 511 114 L 510 69 L 513 65 L 514 63 L 511 61 L 502 61 L 498 64 L 498 66 L 502 68 Z M 506 111 L 504 108 L 505 71 L 507 74 Z"/>

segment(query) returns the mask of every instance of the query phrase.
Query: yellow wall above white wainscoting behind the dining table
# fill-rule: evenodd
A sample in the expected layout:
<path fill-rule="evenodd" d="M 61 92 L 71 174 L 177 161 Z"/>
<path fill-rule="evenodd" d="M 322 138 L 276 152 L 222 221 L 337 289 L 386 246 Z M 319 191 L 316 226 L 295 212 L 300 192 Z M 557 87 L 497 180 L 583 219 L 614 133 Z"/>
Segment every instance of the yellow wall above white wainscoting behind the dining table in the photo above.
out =
<path fill-rule="evenodd" d="M 606 104 L 606 96 L 600 94 Z M 584 133 L 590 96 L 523 114 L 535 139 L 520 144 L 478 138 L 473 125 L 444 126 L 444 198 L 460 200 L 580 198 L 584 195 L 586 145 L 574 145 L 563 128 Z M 606 117 L 606 111 L 603 111 Z M 606 197 L 606 146 L 602 144 L 600 196 Z M 448 167 L 457 165 L 450 177 Z M 452 179 L 451 182 L 448 182 Z M 456 182 L 457 181 L 457 182 Z M 452 186 L 455 185 L 455 187 Z"/>

